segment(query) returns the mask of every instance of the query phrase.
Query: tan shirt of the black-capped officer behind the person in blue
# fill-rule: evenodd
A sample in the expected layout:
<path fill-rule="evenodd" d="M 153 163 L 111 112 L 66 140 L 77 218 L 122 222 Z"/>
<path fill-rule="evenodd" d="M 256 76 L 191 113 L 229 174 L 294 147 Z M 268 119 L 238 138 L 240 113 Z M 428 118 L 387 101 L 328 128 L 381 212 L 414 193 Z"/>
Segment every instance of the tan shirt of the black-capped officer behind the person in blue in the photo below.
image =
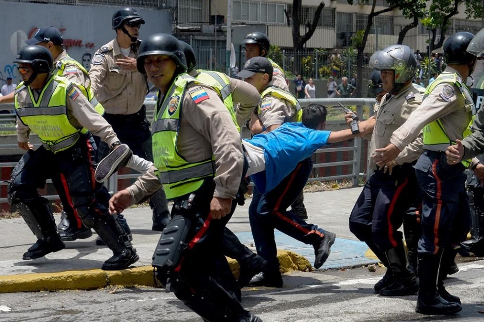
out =
<path fill-rule="evenodd" d="M 271 85 L 273 85 L 272 81 L 268 86 Z M 296 108 L 283 98 L 267 95 L 262 97 L 259 120 L 265 128 L 271 125 L 282 125 L 285 122 L 295 122 L 297 120 Z"/>

